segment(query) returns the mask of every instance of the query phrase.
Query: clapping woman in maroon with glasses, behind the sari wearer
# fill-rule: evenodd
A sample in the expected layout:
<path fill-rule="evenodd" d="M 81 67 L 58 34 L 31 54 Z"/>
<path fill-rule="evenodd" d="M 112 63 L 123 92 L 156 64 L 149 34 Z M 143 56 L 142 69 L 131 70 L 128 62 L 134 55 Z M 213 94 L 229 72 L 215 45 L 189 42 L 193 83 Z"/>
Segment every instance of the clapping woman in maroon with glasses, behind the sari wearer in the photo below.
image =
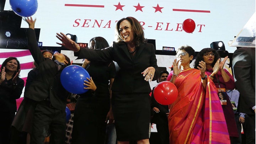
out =
<path fill-rule="evenodd" d="M 234 78 L 228 72 L 228 70 L 223 68 L 227 59 L 228 56 L 226 56 L 224 60 L 220 62 L 220 55 L 217 50 L 212 48 L 204 48 L 197 54 L 194 68 L 198 69 L 198 66 L 200 65 L 199 62 L 204 61 L 206 63 L 206 74 L 209 75 L 209 78 L 214 82 L 217 89 L 224 88 L 234 90 Z M 235 116 L 230 99 L 224 99 L 226 100 L 226 105 L 222 105 L 222 108 L 226 119 L 230 140 L 232 143 L 234 137 L 239 137 L 239 135 L 236 128 Z"/>

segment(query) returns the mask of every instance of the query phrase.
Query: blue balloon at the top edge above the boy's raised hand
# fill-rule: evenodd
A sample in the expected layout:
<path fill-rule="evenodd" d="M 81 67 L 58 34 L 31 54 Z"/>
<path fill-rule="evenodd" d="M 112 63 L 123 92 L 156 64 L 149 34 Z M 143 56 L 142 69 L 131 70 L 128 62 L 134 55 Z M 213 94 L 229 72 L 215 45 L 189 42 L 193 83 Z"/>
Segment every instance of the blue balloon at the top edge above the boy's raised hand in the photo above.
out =
<path fill-rule="evenodd" d="M 19 16 L 30 17 L 37 11 L 37 0 L 10 0 L 11 9 Z"/>

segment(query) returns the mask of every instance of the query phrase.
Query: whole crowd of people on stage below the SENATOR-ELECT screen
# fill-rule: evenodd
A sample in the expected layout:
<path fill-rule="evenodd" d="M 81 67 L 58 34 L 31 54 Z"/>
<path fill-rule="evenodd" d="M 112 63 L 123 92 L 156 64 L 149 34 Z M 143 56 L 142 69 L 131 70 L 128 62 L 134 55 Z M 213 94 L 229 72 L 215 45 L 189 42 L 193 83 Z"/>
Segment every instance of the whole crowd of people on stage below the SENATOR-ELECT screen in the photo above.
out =
<path fill-rule="evenodd" d="M 34 32 L 36 19 L 25 21 L 35 67 L 28 73 L 16 112 L 16 99 L 24 87 L 19 78 L 22 68 L 15 57 L 1 65 L 0 144 L 44 144 L 46 137 L 53 144 L 149 144 L 150 123 L 156 124 L 158 144 L 241 144 L 241 124 L 246 144 L 255 143 L 255 49 L 234 52 L 234 77 L 224 69 L 228 57 L 221 60 L 212 48 L 196 55 L 190 46 L 176 50 L 173 70 L 160 72 L 154 45 L 147 43 L 134 17 L 117 22 L 112 46 L 94 37 L 90 48 L 83 48 L 57 33 L 57 44 L 84 59 L 82 67 L 91 76 L 84 80 L 88 91 L 78 96 L 60 82 L 70 59 L 62 53 L 41 52 Z M 177 99 L 170 105 L 158 103 L 155 87 L 151 90 L 149 85 L 154 80 L 172 82 Z M 67 135 L 65 108 L 72 96 L 76 104 Z"/>

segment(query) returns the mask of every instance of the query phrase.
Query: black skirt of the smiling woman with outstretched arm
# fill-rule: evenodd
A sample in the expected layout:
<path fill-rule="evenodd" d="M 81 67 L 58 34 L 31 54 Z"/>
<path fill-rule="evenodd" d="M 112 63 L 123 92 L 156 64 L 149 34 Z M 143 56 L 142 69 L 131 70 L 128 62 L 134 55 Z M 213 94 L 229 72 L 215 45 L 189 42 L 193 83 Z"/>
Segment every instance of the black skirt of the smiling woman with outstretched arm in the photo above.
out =
<path fill-rule="evenodd" d="M 149 138 L 150 96 L 148 93 L 112 92 L 112 109 L 118 141 Z"/>

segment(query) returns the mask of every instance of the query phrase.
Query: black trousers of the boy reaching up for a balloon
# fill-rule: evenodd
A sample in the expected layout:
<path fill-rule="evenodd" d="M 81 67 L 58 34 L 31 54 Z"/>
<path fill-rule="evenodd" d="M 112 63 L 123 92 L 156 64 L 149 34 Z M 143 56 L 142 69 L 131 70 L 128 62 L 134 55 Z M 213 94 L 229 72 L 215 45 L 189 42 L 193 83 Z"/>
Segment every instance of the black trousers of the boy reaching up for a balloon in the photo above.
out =
<path fill-rule="evenodd" d="M 44 144 L 50 132 L 50 144 L 65 144 L 66 112 L 58 110 L 49 102 L 40 102 L 34 111 L 30 144 Z"/>

